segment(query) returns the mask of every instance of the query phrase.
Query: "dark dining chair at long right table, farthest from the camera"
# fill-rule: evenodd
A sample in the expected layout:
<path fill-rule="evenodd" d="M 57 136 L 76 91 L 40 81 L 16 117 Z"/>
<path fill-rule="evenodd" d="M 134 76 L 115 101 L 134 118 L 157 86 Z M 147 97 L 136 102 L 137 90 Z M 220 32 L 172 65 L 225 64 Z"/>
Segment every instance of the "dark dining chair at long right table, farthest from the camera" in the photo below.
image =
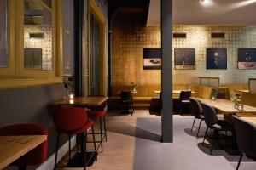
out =
<path fill-rule="evenodd" d="M 191 103 L 191 113 L 194 115 L 194 122 L 191 127 L 191 133 L 192 133 L 192 130 L 193 130 L 193 127 L 195 124 L 195 120 L 196 119 L 200 120 L 200 124 L 199 124 L 197 134 L 196 134 L 196 139 L 198 139 L 201 122 L 205 120 L 205 117 L 203 116 L 203 111 L 202 111 L 202 106 L 201 106 L 200 101 L 198 101 L 197 99 L 190 99 L 190 103 Z"/>

